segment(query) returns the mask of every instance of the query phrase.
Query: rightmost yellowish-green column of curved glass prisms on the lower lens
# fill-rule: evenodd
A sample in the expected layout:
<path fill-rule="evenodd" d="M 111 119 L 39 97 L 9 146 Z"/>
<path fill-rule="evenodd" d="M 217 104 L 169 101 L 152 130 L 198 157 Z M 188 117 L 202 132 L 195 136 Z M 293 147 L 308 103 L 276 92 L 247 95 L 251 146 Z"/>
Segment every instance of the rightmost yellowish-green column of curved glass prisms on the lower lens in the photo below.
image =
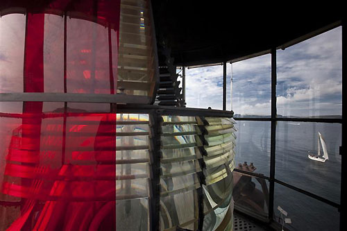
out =
<path fill-rule="evenodd" d="M 231 220 L 232 170 L 234 169 L 235 120 L 230 118 L 205 118 L 208 126 L 204 135 L 206 142 L 206 185 L 203 185 L 204 214 L 203 230 L 226 227 Z"/>

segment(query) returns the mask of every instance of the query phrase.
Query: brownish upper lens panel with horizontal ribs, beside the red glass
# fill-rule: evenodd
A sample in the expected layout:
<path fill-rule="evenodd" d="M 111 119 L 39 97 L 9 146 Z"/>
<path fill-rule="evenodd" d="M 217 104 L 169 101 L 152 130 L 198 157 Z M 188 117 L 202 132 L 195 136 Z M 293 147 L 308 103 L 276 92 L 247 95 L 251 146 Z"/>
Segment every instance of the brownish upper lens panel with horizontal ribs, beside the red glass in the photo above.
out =
<path fill-rule="evenodd" d="M 153 36 L 149 1 L 121 1 L 117 87 L 126 94 L 154 94 Z"/>

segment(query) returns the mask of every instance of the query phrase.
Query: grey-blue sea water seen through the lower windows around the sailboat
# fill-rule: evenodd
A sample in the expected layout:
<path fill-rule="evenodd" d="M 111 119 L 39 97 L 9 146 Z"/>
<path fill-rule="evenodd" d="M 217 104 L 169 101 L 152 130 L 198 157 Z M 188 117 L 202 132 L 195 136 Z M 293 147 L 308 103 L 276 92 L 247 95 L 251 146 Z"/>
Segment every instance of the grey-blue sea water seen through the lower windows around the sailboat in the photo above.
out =
<path fill-rule="evenodd" d="M 237 121 L 235 164 L 253 162 L 255 173 L 270 174 L 271 122 Z M 308 151 L 317 153 L 318 132 L 328 148 L 325 163 L 310 160 Z M 278 121 L 276 126 L 276 173 L 278 180 L 313 194 L 340 201 L 341 124 Z M 275 184 L 274 213 L 278 205 L 288 212 L 290 230 L 339 230 L 339 212 L 335 207 Z"/>

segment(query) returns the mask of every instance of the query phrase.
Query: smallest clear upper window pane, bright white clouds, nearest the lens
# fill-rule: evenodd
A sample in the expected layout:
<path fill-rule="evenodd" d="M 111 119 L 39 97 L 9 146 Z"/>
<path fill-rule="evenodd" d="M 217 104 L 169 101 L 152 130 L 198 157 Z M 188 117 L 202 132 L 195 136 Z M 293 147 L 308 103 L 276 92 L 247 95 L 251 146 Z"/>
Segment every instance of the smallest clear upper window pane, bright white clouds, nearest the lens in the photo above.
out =
<path fill-rule="evenodd" d="M 187 108 L 223 109 L 223 66 L 187 68 L 185 86 Z"/>

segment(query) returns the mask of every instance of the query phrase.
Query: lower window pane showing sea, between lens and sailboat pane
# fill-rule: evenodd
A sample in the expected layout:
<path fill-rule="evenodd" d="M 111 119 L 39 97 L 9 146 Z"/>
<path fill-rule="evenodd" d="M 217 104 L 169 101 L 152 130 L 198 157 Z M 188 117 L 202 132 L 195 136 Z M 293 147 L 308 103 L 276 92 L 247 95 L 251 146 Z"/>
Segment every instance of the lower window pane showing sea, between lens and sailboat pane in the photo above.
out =
<path fill-rule="evenodd" d="M 236 167 L 269 176 L 271 122 L 237 121 L 236 128 Z M 251 164 L 255 169 L 250 169 Z"/>

